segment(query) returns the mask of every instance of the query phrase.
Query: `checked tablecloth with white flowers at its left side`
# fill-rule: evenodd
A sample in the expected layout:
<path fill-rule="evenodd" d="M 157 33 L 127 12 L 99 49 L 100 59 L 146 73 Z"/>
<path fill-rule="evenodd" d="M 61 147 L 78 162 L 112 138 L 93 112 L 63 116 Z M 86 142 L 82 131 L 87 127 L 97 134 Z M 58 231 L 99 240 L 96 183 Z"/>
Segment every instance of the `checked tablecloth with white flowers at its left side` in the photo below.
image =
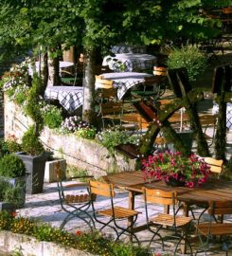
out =
<path fill-rule="evenodd" d="M 144 70 L 152 68 L 157 63 L 157 58 L 149 54 L 140 53 L 120 53 L 116 57 L 106 56 L 103 59 L 102 65 L 109 65 L 109 67 L 116 71 L 132 72 L 133 70 Z"/>

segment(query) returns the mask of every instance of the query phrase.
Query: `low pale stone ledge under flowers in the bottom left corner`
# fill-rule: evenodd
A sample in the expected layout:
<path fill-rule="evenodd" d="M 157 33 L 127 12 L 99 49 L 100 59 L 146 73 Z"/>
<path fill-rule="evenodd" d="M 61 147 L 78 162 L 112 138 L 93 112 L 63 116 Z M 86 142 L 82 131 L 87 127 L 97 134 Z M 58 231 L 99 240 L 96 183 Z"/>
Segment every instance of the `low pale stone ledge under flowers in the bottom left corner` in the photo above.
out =
<path fill-rule="evenodd" d="M 40 242 L 34 237 L 0 231 L 0 250 L 10 252 L 20 249 L 24 256 L 91 256 L 92 253 L 70 247 L 62 247 L 51 242 Z"/>

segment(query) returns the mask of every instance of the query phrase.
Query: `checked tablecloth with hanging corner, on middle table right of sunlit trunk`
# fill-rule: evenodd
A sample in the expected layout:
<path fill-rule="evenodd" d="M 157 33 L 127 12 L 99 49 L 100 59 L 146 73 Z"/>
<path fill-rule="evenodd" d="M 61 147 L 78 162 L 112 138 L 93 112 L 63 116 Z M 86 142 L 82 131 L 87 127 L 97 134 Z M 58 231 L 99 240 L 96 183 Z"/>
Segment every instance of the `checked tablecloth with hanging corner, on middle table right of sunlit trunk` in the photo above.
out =
<path fill-rule="evenodd" d="M 127 90 L 132 88 L 134 85 L 145 82 L 144 77 L 152 77 L 152 75 L 147 73 L 136 73 L 136 72 L 118 72 L 118 73 L 104 73 L 100 76 L 104 77 L 106 80 L 112 80 L 113 86 L 117 89 L 117 98 L 121 100 Z M 96 89 L 98 89 L 99 84 L 96 82 Z"/>

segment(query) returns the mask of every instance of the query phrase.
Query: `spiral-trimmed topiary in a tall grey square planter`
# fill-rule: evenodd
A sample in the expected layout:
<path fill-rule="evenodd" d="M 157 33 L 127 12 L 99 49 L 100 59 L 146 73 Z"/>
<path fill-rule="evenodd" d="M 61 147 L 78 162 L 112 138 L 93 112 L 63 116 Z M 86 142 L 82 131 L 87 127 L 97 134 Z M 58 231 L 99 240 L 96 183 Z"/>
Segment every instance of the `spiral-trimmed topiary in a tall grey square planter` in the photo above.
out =
<path fill-rule="evenodd" d="M 34 122 L 22 137 L 23 152 L 17 155 L 24 161 L 27 169 L 27 193 L 43 192 L 45 161 L 50 153 L 40 140 L 44 128 L 44 119 L 40 107 L 40 98 L 45 92 L 44 84 L 38 74 L 33 74 L 32 86 L 27 95 L 26 115 Z"/>

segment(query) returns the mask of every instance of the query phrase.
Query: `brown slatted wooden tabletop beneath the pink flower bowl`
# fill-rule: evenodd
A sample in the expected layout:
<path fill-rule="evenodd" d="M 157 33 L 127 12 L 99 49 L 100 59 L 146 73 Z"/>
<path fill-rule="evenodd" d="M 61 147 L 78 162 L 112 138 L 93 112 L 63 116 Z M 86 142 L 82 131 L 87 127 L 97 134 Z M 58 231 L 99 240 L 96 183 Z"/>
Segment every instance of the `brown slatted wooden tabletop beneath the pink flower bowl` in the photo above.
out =
<path fill-rule="evenodd" d="M 106 182 L 112 182 L 117 188 L 130 192 L 142 192 L 142 187 L 176 191 L 180 201 L 186 203 L 207 203 L 210 200 L 232 201 L 232 182 L 210 178 L 205 184 L 197 188 L 170 187 L 164 181 L 145 182 L 142 172 L 126 172 L 104 176 Z"/>

